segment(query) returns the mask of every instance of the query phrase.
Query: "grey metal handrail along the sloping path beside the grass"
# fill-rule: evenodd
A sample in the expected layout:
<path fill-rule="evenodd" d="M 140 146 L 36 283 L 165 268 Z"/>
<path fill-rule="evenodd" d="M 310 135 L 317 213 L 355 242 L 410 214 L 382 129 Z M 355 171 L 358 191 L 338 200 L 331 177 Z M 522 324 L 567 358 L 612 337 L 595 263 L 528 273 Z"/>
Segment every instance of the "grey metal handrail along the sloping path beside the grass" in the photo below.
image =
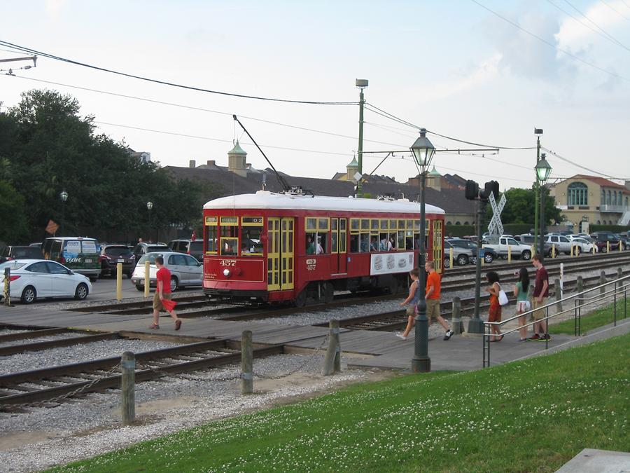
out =
<path fill-rule="evenodd" d="M 511 334 L 514 331 L 518 331 L 521 327 L 530 327 L 531 325 L 535 324 L 536 322 L 540 322 L 542 320 L 545 320 L 545 322 L 548 322 L 549 319 L 553 318 L 553 317 L 558 317 L 559 315 L 563 315 L 566 313 L 570 313 L 573 312 L 574 313 L 574 320 L 575 320 L 575 336 L 577 336 L 580 333 L 580 321 L 581 321 L 581 317 L 582 317 L 582 308 L 584 306 L 587 306 L 591 303 L 594 303 L 596 301 L 603 301 L 604 299 L 608 299 L 609 297 L 612 296 L 612 298 L 614 299 L 615 303 L 614 303 L 614 315 L 613 315 L 613 323 L 615 325 L 617 325 L 617 294 L 621 295 L 623 294 L 624 296 L 624 318 L 627 315 L 626 312 L 626 300 L 627 300 L 627 289 L 630 288 L 630 285 L 627 284 L 628 282 L 630 282 L 630 275 L 626 275 L 623 277 L 619 277 L 615 280 L 612 281 L 608 281 L 605 282 L 604 284 L 598 285 L 596 287 L 591 287 L 589 289 L 584 289 L 584 291 L 576 293 L 576 294 L 572 294 L 568 297 L 559 299 L 557 301 L 553 301 L 551 303 L 547 303 L 545 304 L 545 306 L 541 306 L 535 309 L 531 309 L 531 310 L 527 310 L 526 312 L 522 313 L 522 314 L 517 314 L 514 315 L 513 317 L 510 317 L 508 319 L 502 320 L 501 322 L 484 322 L 484 327 L 486 327 L 486 330 L 484 331 L 484 334 L 482 336 L 482 341 L 483 341 L 483 367 L 486 368 L 486 366 L 490 366 L 490 337 L 491 336 L 504 336 L 507 334 Z M 604 290 L 603 292 L 601 292 L 600 294 L 597 294 L 596 296 L 592 296 L 592 297 L 584 297 L 585 294 L 589 293 L 589 292 L 593 292 L 596 291 L 597 289 L 604 289 L 607 286 L 610 285 L 614 285 L 613 289 L 610 290 Z M 618 286 L 619 285 L 619 286 Z M 571 299 L 574 300 L 574 306 L 573 308 L 568 308 L 565 310 L 561 310 L 559 312 L 554 313 L 553 315 L 549 315 L 549 308 L 553 307 L 553 306 L 562 306 L 563 302 L 566 301 L 570 301 Z M 528 322 L 522 326 L 516 327 L 514 329 L 510 329 L 508 331 L 504 331 L 501 335 L 496 335 L 496 334 L 492 334 L 490 329 L 491 327 L 501 327 L 505 324 L 507 324 L 508 322 L 512 322 L 513 320 L 517 320 L 520 317 L 527 317 L 528 315 L 533 314 L 534 312 L 537 312 L 538 310 L 545 310 L 545 317 L 542 317 L 538 320 L 534 320 L 533 322 Z M 545 350 L 547 350 L 547 348 L 549 348 L 549 341 L 545 340 Z"/>

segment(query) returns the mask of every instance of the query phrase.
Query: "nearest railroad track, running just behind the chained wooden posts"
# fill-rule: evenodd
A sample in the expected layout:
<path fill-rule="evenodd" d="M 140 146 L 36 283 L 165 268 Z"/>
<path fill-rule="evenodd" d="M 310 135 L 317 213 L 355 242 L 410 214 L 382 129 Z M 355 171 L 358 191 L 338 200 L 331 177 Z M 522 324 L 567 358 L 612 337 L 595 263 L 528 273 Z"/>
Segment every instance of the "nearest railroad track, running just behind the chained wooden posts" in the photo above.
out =
<path fill-rule="evenodd" d="M 140 352 L 135 355 L 136 383 L 239 363 L 239 350 L 239 343 L 221 339 Z M 282 352 L 283 345 L 255 345 L 253 355 L 258 358 Z M 120 357 L 109 357 L 0 376 L 0 411 L 21 411 L 34 403 L 52 407 L 65 396 L 120 388 L 122 375 L 115 372 L 119 364 Z"/>

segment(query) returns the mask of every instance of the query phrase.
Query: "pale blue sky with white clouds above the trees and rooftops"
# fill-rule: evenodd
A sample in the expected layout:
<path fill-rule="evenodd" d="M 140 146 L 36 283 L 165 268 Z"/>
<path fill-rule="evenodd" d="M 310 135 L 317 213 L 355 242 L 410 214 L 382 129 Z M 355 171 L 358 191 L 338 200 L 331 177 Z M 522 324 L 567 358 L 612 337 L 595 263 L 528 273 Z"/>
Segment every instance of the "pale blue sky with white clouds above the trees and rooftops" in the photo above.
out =
<path fill-rule="evenodd" d="M 386 156 L 372 151 L 395 151 L 376 174 L 415 176 L 422 127 L 438 150 L 533 148 L 433 158 L 441 174 L 529 187 L 542 128 L 551 181 L 630 179 L 630 0 L 0 0 L 0 41 L 193 88 L 349 102 L 233 97 L 47 57 L 0 62 L 1 111 L 27 90 L 59 90 L 97 132 L 160 165 L 227 165 L 239 139 L 248 163 L 268 167 L 236 114 L 276 169 L 330 179 L 358 149 L 365 78 L 365 174 Z M 0 46 L 0 59 L 25 55 Z"/>

